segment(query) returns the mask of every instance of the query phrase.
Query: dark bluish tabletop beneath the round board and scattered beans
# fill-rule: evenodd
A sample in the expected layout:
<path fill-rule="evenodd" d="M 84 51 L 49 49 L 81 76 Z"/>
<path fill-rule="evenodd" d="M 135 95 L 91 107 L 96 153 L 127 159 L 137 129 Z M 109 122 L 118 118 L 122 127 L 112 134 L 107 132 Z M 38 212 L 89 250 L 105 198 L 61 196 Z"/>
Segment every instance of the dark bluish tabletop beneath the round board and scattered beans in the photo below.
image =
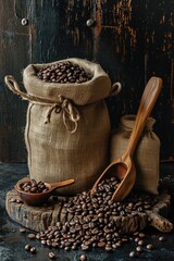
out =
<path fill-rule="evenodd" d="M 44 247 L 40 241 L 32 240 L 27 237 L 29 229 L 21 233 L 21 225 L 14 223 L 5 212 L 5 196 L 11 190 L 16 182 L 28 174 L 27 165 L 25 163 L 1 163 L 0 164 L 0 260 L 1 261 L 47 261 L 50 260 L 48 254 L 50 251 L 55 252 L 57 260 L 60 261 L 78 261 L 83 253 L 78 251 L 65 251 L 61 249 L 49 249 Z M 170 211 L 170 221 L 174 222 L 174 163 L 161 164 L 160 188 L 167 188 L 172 196 L 172 207 Z M 174 233 L 162 234 L 154 228 L 145 231 L 148 243 L 152 243 L 153 250 L 145 249 L 135 260 L 157 260 L 171 261 L 174 259 Z M 159 237 L 164 236 L 165 240 L 160 241 Z M 25 245 L 30 244 L 37 249 L 36 254 L 25 251 Z M 95 249 L 86 252 L 88 261 L 127 261 L 129 252 L 135 249 L 135 243 L 130 241 L 123 247 L 115 249 L 112 253 L 105 252 L 102 249 Z"/>

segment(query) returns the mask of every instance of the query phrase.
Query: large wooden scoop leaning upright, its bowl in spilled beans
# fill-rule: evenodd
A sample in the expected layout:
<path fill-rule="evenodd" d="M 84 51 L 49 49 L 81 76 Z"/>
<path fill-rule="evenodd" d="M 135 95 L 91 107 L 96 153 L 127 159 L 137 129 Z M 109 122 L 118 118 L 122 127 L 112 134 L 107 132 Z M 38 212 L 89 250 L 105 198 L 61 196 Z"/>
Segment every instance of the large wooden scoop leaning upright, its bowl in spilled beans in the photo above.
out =
<path fill-rule="evenodd" d="M 111 162 L 103 171 L 100 177 L 91 188 L 90 195 L 96 192 L 97 185 L 104 178 L 116 176 L 120 179 L 119 186 L 113 192 L 112 200 L 122 201 L 132 190 L 136 179 L 136 169 L 132 160 L 139 137 L 146 126 L 148 116 L 152 111 L 157 98 L 162 87 L 162 79 L 151 77 L 144 90 L 144 95 L 139 104 L 134 128 L 127 144 L 124 154 Z"/>

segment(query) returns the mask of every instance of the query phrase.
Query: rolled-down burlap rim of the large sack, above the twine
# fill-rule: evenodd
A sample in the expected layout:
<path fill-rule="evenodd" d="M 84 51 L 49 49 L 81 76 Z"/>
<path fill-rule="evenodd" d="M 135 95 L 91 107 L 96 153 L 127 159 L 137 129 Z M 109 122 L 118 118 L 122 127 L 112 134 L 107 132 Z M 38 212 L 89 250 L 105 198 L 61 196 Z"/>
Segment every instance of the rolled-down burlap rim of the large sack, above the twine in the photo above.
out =
<path fill-rule="evenodd" d="M 40 70 L 47 64 L 29 64 L 23 72 L 24 86 L 28 94 L 49 98 L 54 102 L 59 101 L 59 96 L 72 100 L 76 105 L 86 105 L 107 98 L 111 92 L 111 80 L 102 67 L 84 59 L 71 58 L 61 61 L 71 61 L 84 67 L 85 71 L 92 75 L 92 78 L 82 84 L 58 84 L 45 83 L 36 75 L 36 70 Z"/>

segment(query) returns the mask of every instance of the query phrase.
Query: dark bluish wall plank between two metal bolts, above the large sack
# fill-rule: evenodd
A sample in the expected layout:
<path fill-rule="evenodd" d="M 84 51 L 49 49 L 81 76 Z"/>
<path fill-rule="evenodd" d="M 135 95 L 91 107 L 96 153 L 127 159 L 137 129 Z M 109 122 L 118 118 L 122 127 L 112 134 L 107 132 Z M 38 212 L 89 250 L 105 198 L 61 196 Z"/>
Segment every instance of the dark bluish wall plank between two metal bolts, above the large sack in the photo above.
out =
<path fill-rule="evenodd" d="M 86 26 L 92 7 L 92 0 L 33 1 L 33 62 L 92 59 L 92 30 Z"/>

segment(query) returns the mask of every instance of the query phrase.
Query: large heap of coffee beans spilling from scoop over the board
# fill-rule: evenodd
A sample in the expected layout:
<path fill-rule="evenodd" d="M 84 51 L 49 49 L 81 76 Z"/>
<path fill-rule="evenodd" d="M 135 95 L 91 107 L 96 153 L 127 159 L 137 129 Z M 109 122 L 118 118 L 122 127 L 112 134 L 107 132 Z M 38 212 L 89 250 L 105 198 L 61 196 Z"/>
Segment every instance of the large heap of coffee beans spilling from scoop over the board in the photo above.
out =
<path fill-rule="evenodd" d="M 111 177 L 98 185 L 92 197 L 90 191 L 84 191 L 69 199 L 64 209 L 65 214 L 72 215 L 71 221 L 65 224 L 58 222 L 55 226 L 38 233 L 36 238 L 41 240 L 42 245 L 66 251 L 92 248 L 112 251 L 122 247 L 129 241 L 129 237 L 122 234 L 112 216 L 137 215 L 150 210 L 156 200 L 149 195 L 132 195 L 123 202 L 113 202 L 111 198 L 117 184 L 119 181 Z"/>

